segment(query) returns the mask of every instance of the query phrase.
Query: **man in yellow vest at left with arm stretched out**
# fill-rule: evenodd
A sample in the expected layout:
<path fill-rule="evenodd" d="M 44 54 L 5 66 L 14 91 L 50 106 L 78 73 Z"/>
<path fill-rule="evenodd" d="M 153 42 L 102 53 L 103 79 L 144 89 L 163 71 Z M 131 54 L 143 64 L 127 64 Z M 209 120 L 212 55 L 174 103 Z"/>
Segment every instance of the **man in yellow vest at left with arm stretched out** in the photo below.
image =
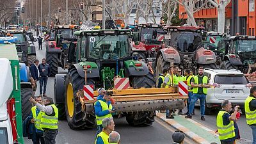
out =
<path fill-rule="evenodd" d="M 55 144 L 55 138 L 58 134 L 58 108 L 53 103 L 51 97 L 44 98 L 44 106 L 38 104 L 32 97 L 29 99 L 30 102 L 35 104 L 36 108 L 43 112 L 40 127 L 44 130 L 44 141 L 47 144 Z"/>

